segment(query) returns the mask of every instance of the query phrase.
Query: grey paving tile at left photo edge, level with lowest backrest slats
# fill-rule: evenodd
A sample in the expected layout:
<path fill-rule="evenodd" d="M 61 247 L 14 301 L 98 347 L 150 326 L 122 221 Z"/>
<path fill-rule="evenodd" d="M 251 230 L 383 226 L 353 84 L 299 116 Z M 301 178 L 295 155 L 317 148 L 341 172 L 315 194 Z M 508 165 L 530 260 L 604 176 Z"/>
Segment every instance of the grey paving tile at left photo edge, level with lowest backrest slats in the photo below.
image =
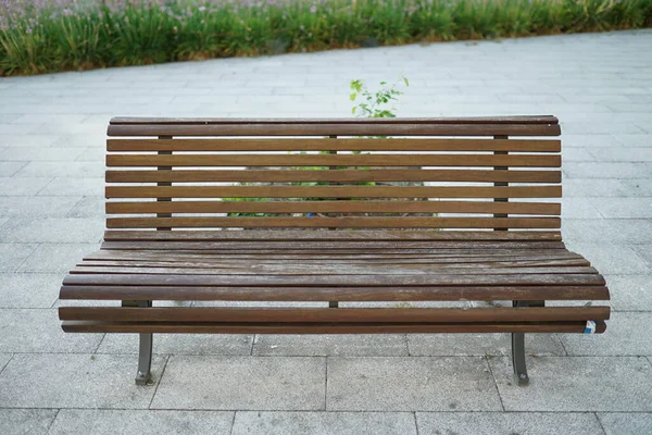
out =
<path fill-rule="evenodd" d="M 98 243 L 103 232 L 103 219 L 14 217 L 0 228 L 0 243 Z"/>

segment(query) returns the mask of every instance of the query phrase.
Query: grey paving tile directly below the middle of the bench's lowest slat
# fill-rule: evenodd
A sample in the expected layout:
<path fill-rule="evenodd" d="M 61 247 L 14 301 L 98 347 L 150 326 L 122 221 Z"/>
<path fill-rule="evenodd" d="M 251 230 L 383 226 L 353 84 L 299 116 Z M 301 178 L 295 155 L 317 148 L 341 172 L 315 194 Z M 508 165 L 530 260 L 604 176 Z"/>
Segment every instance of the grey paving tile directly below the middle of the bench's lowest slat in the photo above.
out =
<path fill-rule="evenodd" d="M 406 357 L 404 335 L 256 335 L 253 355 Z"/>

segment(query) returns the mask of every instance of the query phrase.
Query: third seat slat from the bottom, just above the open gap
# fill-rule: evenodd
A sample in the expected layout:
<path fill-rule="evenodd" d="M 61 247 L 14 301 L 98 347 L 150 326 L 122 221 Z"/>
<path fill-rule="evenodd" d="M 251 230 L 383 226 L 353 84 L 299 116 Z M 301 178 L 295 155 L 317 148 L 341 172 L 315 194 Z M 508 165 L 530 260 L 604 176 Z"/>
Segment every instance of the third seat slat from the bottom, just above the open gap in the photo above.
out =
<path fill-rule="evenodd" d="M 401 286 L 391 287 L 225 287 L 63 285 L 60 299 L 234 300 L 234 301 L 455 301 L 455 300 L 609 300 L 609 289 L 586 286 Z"/>

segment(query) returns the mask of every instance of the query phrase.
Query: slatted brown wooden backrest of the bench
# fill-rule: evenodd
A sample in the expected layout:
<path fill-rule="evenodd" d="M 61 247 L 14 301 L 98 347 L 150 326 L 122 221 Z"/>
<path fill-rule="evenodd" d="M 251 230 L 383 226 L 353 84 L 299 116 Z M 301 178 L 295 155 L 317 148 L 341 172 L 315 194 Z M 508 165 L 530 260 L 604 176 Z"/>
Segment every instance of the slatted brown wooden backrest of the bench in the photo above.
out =
<path fill-rule="evenodd" d="M 109 228 L 560 227 L 554 116 L 115 117 L 108 134 Z"/>

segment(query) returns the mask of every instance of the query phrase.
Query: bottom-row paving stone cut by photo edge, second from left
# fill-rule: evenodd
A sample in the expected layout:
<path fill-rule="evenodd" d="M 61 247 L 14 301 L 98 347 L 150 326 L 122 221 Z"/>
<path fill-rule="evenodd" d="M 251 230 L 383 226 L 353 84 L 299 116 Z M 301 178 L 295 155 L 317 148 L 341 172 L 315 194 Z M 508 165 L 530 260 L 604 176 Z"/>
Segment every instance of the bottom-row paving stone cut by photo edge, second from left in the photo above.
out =
<path fill-rule="evenodd" d="M 62 409 L 49 435 L 230 435 L 233 412 Z"/>

